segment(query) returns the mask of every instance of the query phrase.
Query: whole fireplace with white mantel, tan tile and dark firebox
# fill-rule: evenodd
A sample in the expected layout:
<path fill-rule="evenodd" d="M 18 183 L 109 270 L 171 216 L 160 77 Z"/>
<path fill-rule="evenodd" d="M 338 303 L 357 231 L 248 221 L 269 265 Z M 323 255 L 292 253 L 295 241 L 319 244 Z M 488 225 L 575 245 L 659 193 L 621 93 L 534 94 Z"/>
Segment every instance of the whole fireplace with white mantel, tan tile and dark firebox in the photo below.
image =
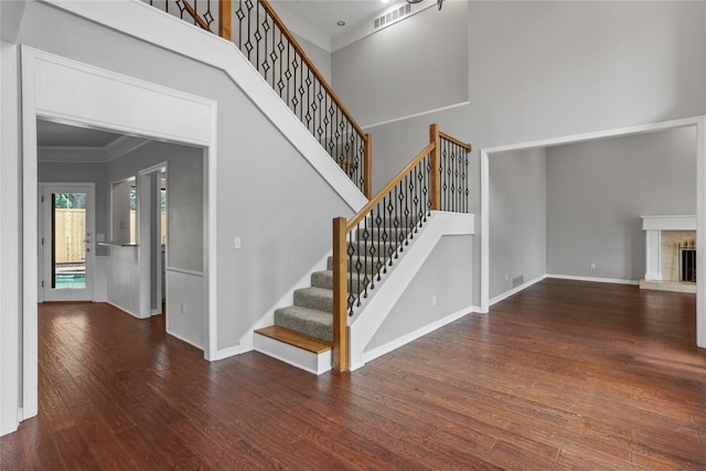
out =
<path fill-rule="evenodd" d="M 696 216 L 642 216 L 645 276 L 640 288 L 696 292 Z"/>

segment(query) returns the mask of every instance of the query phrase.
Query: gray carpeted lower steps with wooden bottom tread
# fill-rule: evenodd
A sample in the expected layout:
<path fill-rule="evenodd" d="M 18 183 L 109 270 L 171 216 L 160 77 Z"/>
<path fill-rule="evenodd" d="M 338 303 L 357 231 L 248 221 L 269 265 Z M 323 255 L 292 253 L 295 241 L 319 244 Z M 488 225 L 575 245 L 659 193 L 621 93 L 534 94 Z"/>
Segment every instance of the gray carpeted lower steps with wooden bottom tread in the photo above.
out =
<path fill-rule="evenodd" d="M 367 296 L 371 282 L 378 281 L 373 275 L 385 271 L 378 257 L 381 250 L 395 256 L 404 249 L 407 235 L 399 224 L 389 223 L 387 227 L 372 227 L 361 237 L 347 245 L 351 257 L 349 271 L 349 292 L 354 298 L 361 293 Z M 397 226 L 397 227 L 395 227 Z M 381 232 L 384 232 L 381 233 Z M 361 271 L 362 270 L 362 271 Z M 381 276 L 382 279 L 382 276 Z M 255 331 L 255 350 L 293 364 L 314 374 L 331 370 L 331 349 L 333 342 L 333 257 L 327 260 L 327 269 L 311 274 L 311 286 L 295 290 L 293 304 L 275 310 L 275 325 Z"/>

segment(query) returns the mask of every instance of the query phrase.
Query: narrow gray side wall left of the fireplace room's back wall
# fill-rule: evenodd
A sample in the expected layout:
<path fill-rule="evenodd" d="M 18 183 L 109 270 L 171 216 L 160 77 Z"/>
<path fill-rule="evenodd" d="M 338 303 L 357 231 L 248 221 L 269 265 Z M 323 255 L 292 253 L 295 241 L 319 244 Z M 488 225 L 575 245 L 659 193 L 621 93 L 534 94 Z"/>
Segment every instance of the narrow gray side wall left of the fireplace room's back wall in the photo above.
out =
<path fill-rule="evenodd" d="M 544 149 L 490 158 L 490 298 L 546 274 Z"/>

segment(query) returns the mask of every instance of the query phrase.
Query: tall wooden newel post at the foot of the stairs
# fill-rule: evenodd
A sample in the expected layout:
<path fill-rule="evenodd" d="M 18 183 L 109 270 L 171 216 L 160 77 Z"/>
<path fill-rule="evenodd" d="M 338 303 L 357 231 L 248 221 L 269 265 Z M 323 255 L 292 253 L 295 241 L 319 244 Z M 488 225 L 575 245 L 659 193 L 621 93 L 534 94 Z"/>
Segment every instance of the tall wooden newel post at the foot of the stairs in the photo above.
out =
<path fill-rule="evenodd" d="M 333 220 L 333 370 L 349 371 L 346 221 Z"/>

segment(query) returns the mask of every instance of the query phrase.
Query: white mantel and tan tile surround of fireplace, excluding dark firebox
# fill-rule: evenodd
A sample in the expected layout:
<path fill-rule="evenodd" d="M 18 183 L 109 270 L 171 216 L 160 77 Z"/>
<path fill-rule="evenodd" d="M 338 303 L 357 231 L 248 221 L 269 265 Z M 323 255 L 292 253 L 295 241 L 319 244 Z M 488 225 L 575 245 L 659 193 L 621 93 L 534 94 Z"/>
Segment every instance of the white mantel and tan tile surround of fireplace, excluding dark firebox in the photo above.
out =
<path fill-rule="evenodd" d="M 680 282 L 676 243 L 696 240 L 695 215 L 641 216 L 645 231 L 645 275 L 642 289 L 696 292 L 696 283 Z"/>

